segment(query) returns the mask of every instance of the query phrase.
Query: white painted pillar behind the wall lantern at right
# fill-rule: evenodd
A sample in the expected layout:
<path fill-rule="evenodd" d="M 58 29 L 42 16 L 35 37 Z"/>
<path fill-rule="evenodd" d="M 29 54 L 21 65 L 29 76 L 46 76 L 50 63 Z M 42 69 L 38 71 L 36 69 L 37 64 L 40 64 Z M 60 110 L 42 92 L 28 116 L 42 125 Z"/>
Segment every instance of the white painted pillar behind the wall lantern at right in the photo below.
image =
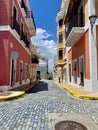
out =
<path fill-rule="evenodd" d="M 89 16 L 95 15 L 95 0 L 88 0 Z M 96 48 L 96 24 L 91 30 L 89 24 L 89 55 L 90 55 L 90 84 L 87 86 L 91 91 L 98 91 L 97 81 L 97 48 Z"/>

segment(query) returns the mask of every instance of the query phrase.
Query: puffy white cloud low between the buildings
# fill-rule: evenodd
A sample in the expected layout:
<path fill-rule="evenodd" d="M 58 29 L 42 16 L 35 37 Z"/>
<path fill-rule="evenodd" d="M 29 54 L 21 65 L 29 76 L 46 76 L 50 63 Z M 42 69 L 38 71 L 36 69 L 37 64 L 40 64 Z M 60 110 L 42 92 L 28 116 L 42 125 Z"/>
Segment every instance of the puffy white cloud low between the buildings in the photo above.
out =
<path fill-rule="evenodd" d="M 36 36 L 32 37 L 32 43 L 37 46 L 38 52 L 48 58 L 49 70 L 53 68 L 54 55 L 57 52 L 57 44 L 50 39 L 52 34 L 49 34 L 42 28 L 37 28 Z"/>

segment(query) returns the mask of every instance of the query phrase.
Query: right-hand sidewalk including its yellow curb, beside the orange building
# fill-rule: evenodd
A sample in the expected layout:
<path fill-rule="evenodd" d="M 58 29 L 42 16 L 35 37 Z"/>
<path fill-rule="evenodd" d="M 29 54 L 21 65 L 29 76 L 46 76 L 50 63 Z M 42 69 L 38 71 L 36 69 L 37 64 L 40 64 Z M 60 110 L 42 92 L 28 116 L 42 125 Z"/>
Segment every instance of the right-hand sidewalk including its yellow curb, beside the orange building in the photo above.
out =
<path fill-rule="evenodd" d="M 73 96 L 81 99 L 86 100 L 98 100 L 98 92 L 90 92 L 86 89 L 84 89 L 82 86 L 71 86 L 69 84 L 59 83 L 55 81 L 55 83 L 61 87 L 62 89 L 65 89 L 67 92 L 72 94 Z"/>

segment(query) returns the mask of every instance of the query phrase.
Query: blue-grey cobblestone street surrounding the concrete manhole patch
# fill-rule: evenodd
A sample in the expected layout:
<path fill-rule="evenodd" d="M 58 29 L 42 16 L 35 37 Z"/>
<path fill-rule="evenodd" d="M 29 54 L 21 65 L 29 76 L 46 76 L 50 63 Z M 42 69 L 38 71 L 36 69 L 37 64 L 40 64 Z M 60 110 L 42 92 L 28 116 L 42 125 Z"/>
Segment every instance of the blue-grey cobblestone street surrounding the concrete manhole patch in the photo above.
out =
<path fill-rule="evenodd" d="M 0 130 L 52 130 L 51 113 L 87 114 L 98 123 L 98 101 L 77 99 L 53 81 L 43 80 L 24 97 L 0 102 Z"/>

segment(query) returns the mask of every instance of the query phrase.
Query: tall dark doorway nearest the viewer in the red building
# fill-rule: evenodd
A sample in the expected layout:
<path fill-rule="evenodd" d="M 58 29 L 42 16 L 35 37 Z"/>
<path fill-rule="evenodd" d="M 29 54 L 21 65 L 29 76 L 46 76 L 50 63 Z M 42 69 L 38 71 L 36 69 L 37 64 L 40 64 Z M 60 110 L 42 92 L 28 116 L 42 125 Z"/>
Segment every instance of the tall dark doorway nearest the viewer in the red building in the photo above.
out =
<path fill-rule="evenodd" d="M 11 63 L 11 86 L 15 85 L 15 60 L 12 59 Z"/>

